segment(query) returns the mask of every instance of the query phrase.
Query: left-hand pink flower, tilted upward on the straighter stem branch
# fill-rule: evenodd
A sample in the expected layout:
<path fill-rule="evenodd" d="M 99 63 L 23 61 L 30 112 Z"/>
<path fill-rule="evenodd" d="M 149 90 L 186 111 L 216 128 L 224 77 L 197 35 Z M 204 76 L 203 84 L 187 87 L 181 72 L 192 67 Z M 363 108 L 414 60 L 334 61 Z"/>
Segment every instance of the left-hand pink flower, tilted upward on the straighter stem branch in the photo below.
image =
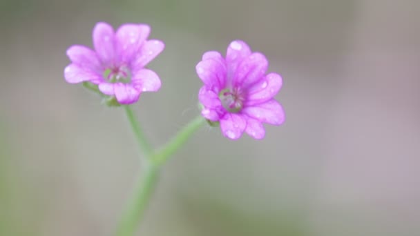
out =
<path fill-rule="evenodd" d="M 104 95 L 120 104 L 132 104 L 140 93 L 158 91 L 160 79 L 144 68 L 164 49 L 159 40 L 147 40 L 151 28 L 145 24 L 126 23 L 117 32 L 108 23 L 99 22 L 93 29 L 93 46 L 68 48 L 71 63 L 64 69 L 68 83 L 89 81 Z"/>

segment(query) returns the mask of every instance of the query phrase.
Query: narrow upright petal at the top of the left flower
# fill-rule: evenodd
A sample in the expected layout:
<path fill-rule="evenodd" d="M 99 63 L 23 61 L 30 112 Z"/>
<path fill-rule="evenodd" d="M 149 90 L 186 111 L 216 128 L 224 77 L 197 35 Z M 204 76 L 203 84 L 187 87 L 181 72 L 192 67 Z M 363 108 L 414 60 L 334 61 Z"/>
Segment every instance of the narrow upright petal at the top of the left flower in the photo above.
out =
<path fill-rule="evenodd" d="M 99 22 L 93 28 L 93 46 L 104 66 L 110 66 L 115 59 L 115 35 L 113 27 Z"/>

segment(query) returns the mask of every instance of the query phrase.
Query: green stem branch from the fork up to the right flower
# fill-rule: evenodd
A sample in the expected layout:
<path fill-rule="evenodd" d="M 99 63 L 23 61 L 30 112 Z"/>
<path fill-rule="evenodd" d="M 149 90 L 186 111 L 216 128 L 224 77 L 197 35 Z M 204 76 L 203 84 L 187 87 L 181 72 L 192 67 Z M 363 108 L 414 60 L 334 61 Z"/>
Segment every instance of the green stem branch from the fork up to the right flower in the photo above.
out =
<path fill-rule="evenodd" d="M 164 164 L 169 157 L 173 155 L 180 147 L 182 147 L 185 142 L 193 135 L 193 133 L 198 130 L 203 124 L 205 124 L 206 119 L 201 115 L 195 117 L 187 126 L 184 126 L 178 134 L 173 137 L 168 143 L 160 148 L 155 155 L 153 155 L 151 161 L 157 164 L 158 166 Z"/>

